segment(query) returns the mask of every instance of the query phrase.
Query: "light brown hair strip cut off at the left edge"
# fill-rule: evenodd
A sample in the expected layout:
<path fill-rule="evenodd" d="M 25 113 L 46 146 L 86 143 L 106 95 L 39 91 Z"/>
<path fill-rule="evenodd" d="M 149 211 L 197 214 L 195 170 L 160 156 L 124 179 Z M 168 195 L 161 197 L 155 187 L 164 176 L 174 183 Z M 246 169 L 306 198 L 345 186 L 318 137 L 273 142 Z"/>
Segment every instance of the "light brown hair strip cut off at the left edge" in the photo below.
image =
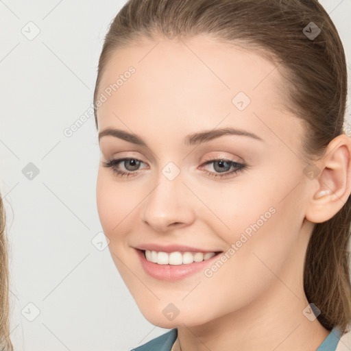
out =
<path fill-rule="evenodd" d="M 5 234 L 5 209 L 0 195 L 0 349 L 13 351 L 9 320 L 8 239 Z"/>

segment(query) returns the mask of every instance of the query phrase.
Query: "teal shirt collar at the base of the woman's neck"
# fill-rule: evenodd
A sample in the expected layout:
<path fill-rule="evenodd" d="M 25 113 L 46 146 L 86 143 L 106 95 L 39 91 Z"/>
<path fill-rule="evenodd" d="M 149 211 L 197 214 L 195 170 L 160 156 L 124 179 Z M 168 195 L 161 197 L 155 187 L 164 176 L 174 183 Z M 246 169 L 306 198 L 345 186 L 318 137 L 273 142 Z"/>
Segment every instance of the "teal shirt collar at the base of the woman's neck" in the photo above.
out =
<path fill-rule="evenodd" d="M 169 332 L 150 340 L 144 345 L 133 348 L 132 351 L 171 351 L 177 335 L 177 328 L 171 329 Z M 335 351 L 340 338 L 340 330 L 337 327 L 333 328 L 316 351 Z"/>

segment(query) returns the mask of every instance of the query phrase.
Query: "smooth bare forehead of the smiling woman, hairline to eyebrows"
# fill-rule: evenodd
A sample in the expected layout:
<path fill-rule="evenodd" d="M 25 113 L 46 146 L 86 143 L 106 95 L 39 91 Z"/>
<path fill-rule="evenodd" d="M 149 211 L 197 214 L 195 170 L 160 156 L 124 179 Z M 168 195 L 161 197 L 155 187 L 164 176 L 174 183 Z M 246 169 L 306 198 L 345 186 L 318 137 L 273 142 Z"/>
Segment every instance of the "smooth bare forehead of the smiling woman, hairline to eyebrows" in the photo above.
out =
<path fill-rule="evenodd" d="M 130 67 L 134 73 L 126 74 Z M 97 110 L 99 130 L 123 127 L 121 120 L 138 130 L 150 123 L 156 129 L 180 123 L 191 130 L 199 121 L 215 128 L 229 113 L 238 127 L 256 121 L 258 131 L 263 125 L 257 115 L 272 123 L 284 118 L 284 88 L 276 64 L 254 50 L 210 36 L 145 40 L 114 51 L 108 60 L 97 94 L 106 95 Z M 247 108 L 240 110 L 238 99 Z"/>

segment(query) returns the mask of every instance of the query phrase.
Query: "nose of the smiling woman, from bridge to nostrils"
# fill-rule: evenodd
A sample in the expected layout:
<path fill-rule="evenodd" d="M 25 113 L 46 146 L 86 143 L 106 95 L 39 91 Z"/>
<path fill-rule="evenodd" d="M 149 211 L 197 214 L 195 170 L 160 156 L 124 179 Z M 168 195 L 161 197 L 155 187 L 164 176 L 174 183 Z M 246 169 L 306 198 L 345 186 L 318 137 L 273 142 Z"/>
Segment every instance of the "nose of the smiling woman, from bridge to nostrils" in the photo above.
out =
<path fill-rule="evenodd" d="M 160 175 L 158 184 L 147 195 L 143 207 L 143 221 L 157 232 L 189 226 L 195 220 L 191 191 L 178 175 L 174 180 Z"/>

